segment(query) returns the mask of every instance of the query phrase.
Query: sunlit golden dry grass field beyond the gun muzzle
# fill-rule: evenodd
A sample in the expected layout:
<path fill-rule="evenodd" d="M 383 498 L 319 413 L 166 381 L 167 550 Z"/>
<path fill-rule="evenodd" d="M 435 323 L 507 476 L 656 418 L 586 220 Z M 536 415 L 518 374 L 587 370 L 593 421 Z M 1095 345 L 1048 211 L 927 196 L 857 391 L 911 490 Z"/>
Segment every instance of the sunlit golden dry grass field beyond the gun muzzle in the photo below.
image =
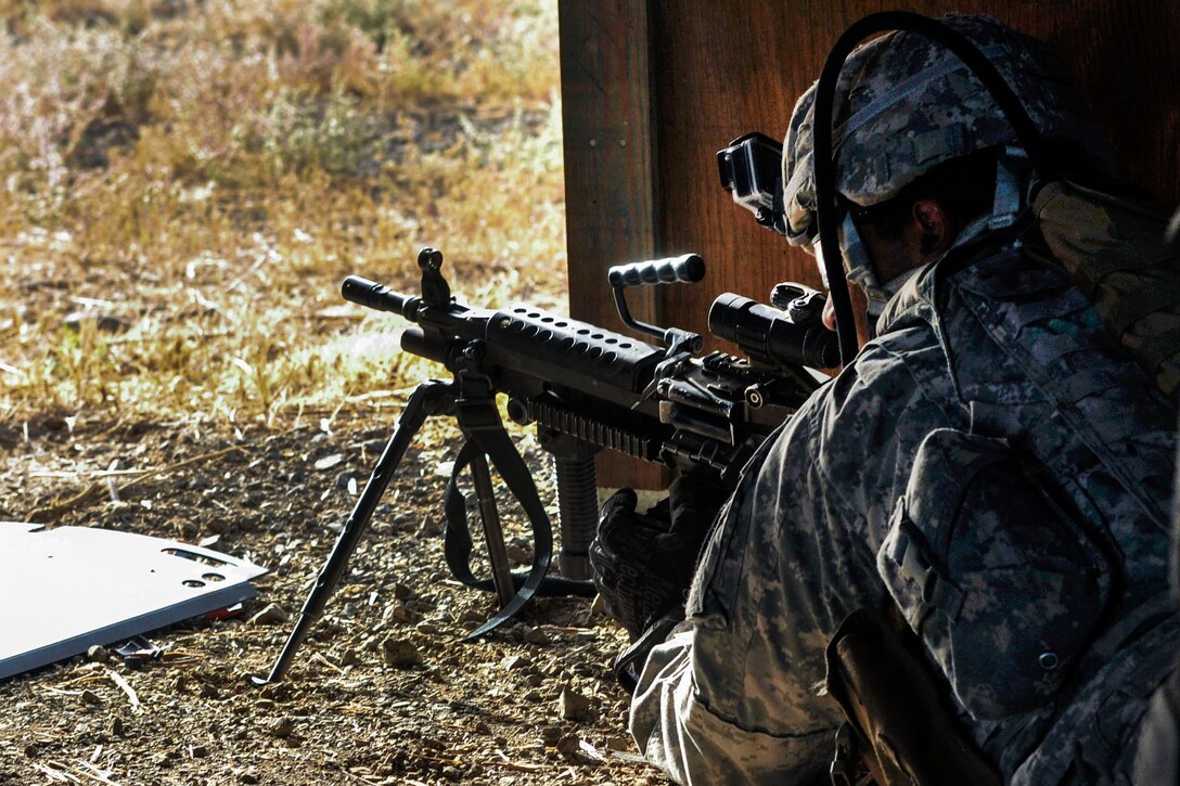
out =
<path fill-rule="evenodd" d="M 339 282 L 415 290 L 421 245 L 466 300 L 564 301 L 555 0 L 0 0 L 0 420 L 273 425 L 411 385 L 400 321 Z"/>

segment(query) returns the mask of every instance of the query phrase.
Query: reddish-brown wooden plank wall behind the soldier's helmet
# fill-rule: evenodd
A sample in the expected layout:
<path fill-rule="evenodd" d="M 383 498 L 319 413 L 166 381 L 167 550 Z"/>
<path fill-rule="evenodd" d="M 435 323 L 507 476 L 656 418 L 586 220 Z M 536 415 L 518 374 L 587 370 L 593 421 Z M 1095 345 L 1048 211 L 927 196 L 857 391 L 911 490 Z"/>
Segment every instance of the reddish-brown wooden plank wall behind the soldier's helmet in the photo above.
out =
<path fill-rule="evenodd" d="M 782 138 L 831 44 L 877 11 L 989 13 L 1076 70 L 1122 173 L 1180 201 L 1180 4 L 1158 0 L 559 0 L 570 312 L 617 326 L 610 264 L 686 251 L 695 286 L 648 293 L 662 325 L 707 333 L 722 292 L 819 286 L 814 262 L 721 190 L 715 153 Z M 596 140 L 591 144 L 591 140 Z M 713 345 L 719 346 L 719 345 Z"/>

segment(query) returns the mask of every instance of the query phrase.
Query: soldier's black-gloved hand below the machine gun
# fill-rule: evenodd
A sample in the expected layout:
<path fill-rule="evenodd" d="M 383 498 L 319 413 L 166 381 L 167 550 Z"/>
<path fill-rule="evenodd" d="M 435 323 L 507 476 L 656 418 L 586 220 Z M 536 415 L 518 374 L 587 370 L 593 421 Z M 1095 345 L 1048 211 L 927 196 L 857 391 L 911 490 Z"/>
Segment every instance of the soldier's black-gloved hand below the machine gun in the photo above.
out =
<path fill-rule="evenodd" d="M 621 489 L 603 505 L 598 536 L 590 544 L 594 582 L 607 614 L 622 623 L 632 642 L 669 614 L 683 617 L 701 546 L 721 506 L 719 497 L 681 477 L 645 515 L 635 512 L 631 489 Z"/>

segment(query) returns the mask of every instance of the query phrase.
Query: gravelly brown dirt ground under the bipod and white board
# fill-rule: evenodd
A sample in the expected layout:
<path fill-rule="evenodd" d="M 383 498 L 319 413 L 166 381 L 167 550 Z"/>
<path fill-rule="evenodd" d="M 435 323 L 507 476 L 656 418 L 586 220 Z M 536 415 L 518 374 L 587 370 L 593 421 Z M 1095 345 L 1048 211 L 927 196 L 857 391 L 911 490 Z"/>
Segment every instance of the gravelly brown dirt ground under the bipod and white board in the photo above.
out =
<path fill-rule="evenodd" d="M 458 447 L 446 426 L 411 450 L 287 680 L 251 686 L 388 437 L 400 407 L 382 404 L 304 413 L 282 431 L 0 425 L 0 518 L 206 543 L 270 571 L 241 615 L 149 634 L 159 660 L 130 668 L 96 653 L 0 682 L 0 782 L 664 782 L 636 755 L 608 668 L 625 636 L 590 601 L 535 600 L 506 630 L 460 641 L 494 602 L 442 561 Z M 114 476 L 112 492 L 93 474 L 112 466 L 150 472 Z M 530 544 L 510 546 L 524 558 Z M 257 618 L 270 604 L 282 613 Z M 393 655 L 407 648 L 420 663 Z"/>

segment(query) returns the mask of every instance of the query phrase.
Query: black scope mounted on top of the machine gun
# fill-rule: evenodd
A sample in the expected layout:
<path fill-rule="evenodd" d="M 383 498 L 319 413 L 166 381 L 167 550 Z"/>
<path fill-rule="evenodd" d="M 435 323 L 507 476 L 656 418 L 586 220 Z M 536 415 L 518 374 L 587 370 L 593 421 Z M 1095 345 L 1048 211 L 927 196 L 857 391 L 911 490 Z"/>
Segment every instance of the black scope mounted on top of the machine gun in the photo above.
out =
<path fill-rule="evenodd" d="M 713 301 L 709 332 L 733 341 L 762 363 L 812 368 L 840 365 L 840 341 L 821 322 L 795 323 L 786 312 L 732 292 Z"/>

